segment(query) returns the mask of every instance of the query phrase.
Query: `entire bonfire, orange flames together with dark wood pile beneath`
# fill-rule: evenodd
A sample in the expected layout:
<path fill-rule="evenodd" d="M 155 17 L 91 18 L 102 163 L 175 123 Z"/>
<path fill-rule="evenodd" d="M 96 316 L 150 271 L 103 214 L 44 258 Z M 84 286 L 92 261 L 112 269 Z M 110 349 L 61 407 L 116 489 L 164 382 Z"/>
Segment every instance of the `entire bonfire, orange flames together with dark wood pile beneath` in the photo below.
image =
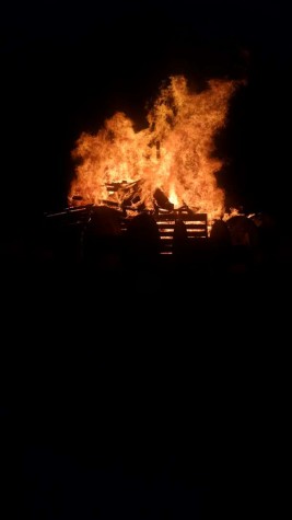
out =
<path fill-rule="evenodd" d="M 237 86 L 211 80 L 205 90 L 191 91 L 184 77 L 171 77 L 145 128 L 136 130 L 126 114 L 116 113 L 96 135 L 80 136 L 65 215 L 81 230 L 83 250 L 86 244 L 93 254 L 101 244 L 108 247 L 108 238 L 125 235 L 143 254 L 145 244 L 172 254 L 207 238 L 221 250 L 255 246 L 255 223 L 226 213 L 215 180 L 224 162 L 215 158 L 214 138 Z"/>

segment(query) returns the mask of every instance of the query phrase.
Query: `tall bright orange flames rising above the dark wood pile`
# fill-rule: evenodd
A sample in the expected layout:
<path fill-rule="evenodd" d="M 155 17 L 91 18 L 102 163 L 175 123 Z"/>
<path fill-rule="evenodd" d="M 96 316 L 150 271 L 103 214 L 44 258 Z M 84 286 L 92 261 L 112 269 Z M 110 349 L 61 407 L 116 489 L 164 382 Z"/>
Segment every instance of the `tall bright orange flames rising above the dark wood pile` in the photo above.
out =
<path fill-rule="evenodd" d="M 118 112 L 96 135 L 83 132 L 72 152 L 78 166 L 69 201 L 81 196 L 83 204 L 122 204 L 129 192 L 110 193 L 108 185 L 138 182 L 139 204 L 149 209 L 159 188 L 176 207 L 187 205 L 210 219 L 222 216 L 224 193 L 214 174 L 223 161 L 214 158 L 213 139 L 235 88 L 234 81 L 210 80 L 205 91 L 191 92 L 185 77 L 171 77 L 148 114 L 147 128 L 136 131 Z"/>

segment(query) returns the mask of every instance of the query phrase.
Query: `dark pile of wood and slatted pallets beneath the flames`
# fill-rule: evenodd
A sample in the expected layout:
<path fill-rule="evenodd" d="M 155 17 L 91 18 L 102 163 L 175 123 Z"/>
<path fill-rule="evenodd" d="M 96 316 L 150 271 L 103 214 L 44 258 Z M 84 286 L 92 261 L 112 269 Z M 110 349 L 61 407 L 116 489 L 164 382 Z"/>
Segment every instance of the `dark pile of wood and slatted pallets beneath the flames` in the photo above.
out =
<path fill-rule="evenodd" d="M 199 259 L 219 268 L 233 264 L 246 269 L 262 261 L 258 216 L 233 213 L 209 224 L 207 213 L 194 212 L 187 206 L 174 208 L 163 193 L 155 194 L 153 210 L 137 205 L 136 196 L 133 190 L 135 209 L 127 198 L 122 208 L 104 199 L 101 205 L 69 207 L 46 215 L 54 255 L 66 262 L 85 259 L 106 269 L 105 265 L 113 261 L 151 265 L 159 255 L 174 255 L 184 265 Z"/>

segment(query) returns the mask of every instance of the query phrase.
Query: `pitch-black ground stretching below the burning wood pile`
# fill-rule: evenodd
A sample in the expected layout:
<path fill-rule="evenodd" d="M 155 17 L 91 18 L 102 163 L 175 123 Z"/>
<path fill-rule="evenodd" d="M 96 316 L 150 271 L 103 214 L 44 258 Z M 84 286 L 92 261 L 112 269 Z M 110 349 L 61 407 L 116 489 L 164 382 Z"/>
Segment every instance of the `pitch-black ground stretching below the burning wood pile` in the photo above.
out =
<path fill-rule="evenodd" d="M 5 518 L 285 510 L 289 257 L 165 261 L 2 270 Z"/>

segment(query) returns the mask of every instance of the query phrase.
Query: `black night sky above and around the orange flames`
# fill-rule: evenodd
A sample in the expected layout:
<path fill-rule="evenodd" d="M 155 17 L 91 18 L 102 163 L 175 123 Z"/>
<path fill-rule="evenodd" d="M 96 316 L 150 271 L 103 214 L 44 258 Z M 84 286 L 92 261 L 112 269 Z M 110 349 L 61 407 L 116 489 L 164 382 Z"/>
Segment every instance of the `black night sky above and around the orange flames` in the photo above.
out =
<path fill-rule="evenodd" d="M 229 158 L 219 182 L 246 209 L 289 203 L 292 45 L 283 2 L 16 1 L 1 7 L 0 28 L 4 204 L 62 206 L 80 132 L 116 109 L 143 124 L 161 81 L 179 72 L 197 82 L 247 77 L 219 141 Z"/>

